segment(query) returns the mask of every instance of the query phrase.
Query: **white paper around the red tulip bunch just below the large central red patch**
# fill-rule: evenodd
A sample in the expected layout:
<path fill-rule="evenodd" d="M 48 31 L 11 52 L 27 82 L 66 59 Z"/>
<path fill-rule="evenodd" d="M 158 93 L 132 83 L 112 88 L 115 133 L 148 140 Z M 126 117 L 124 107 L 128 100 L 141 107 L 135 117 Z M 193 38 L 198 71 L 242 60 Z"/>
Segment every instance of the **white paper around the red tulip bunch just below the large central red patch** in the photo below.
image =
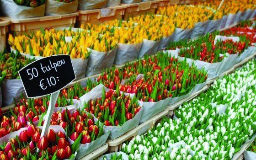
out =
<path fill-rule="evenodd" d="M 94 87 L 91 91 L 86 93 L 84 96 L 80 97 L 80 109 L 83 109 L 84 104 L 90 101 L 91 99 L 100 98 L 102 96 L 102 89 L 105 88 L 105 91 L 108 91 L 104 85 L 99 84 Z M 130 94 L 130 97 L 133 97 L 133 94 Z M 109 138 L 116 139 L 123 135 L 124 133 L 128 132 L 129 130 L 137 127 L 139 125 L 139 120 L 142 115 L 143 107 L 140 106 L 140 111 L 130 120 L 123 123 L 122 126 L 103 126 L 104 132 L 107 133 L 110 131 Z"/>

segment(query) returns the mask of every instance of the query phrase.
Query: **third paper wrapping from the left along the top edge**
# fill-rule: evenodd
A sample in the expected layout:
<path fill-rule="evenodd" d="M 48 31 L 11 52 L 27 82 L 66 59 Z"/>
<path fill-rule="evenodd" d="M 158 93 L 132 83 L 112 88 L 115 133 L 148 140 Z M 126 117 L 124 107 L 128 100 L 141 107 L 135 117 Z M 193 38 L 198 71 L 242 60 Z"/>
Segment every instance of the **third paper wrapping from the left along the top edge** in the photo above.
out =
<path fill-rule="evenodd" d="M 99 8 L 105 8 L 107 6 L 107 0 L 79 0 L 79 10 L 93 10 Z"/>

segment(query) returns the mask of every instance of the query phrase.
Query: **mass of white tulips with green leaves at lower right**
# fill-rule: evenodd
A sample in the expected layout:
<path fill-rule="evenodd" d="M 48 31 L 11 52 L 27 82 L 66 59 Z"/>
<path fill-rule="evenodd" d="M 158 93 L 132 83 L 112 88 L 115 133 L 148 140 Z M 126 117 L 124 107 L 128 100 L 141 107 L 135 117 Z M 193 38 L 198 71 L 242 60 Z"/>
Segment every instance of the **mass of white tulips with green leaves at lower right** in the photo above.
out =
<path fill-rule="evenodd" d="M 146 135 L 123 144 L 131 160 L 226 160 L 255 138 L 256 60 L 214 81 Z"/>

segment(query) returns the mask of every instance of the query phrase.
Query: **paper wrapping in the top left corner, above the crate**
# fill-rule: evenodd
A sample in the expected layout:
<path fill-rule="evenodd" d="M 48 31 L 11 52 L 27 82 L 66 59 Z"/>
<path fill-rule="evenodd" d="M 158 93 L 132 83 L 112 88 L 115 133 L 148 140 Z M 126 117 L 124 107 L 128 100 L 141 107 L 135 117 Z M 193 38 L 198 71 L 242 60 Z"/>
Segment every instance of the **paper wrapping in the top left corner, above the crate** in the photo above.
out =
<path fill-rule="evenodd" d="M 2 14 L 11 17 L 12 19 L 44 16 L 45 11 L 45 4 L 33 8 L 17 5 L 13 0 L 1 0 L 0 5 Z"/>

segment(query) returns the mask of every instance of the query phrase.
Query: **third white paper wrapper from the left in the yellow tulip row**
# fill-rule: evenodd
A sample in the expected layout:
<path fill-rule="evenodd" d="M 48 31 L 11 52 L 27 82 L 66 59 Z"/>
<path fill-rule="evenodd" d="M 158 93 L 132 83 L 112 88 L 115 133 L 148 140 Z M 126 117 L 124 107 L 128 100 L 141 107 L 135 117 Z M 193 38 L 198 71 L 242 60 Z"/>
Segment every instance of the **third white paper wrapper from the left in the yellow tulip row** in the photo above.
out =
<path fill-rule="evenodd" d="M 117 54 L 114 64 L 121 65 L 136 60 L 143 43 L 121 44 L 117 43 Z"/>

